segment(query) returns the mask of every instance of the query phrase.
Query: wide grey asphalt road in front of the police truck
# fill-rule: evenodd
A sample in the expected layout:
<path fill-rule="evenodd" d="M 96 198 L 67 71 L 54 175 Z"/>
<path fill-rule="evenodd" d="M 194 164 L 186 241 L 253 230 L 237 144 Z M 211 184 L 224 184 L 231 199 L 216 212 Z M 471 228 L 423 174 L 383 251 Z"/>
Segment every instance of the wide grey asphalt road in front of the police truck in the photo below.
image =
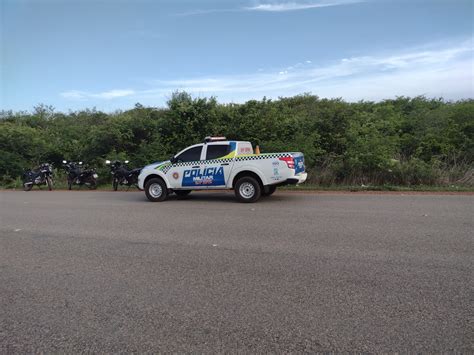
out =
<path fill-rule="evenodd" d="M 474 351 L 473 196 L 0 191 L 0 353 Z"/>

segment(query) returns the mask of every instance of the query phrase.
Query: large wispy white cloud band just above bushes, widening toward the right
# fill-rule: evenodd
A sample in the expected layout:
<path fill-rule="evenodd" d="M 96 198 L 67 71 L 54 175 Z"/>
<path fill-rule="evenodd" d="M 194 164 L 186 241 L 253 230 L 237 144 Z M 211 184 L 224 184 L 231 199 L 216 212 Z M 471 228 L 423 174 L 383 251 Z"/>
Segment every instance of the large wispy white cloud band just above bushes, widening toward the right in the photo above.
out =
<path fill-rule="evenodd" d="M 394 96 L 446 99 L 472 98 L 473 55 L 471 42 L 449 47 L 424 47 L 403 53 L 343 58 L 325 65 L 301 63 L 279 70 L 245 75 L 224 75 L 173 80 L 151 80 L 141 90 L 110 90 L 93 94 L 69 91 L 67 99 L 133 97 L 142 103 L 164 102 L 175 90 L 217 96 L 222 102 L 243 102 L 262 96 L 277 98 L 303 92 L 349 101 L 379 100 Z"/>

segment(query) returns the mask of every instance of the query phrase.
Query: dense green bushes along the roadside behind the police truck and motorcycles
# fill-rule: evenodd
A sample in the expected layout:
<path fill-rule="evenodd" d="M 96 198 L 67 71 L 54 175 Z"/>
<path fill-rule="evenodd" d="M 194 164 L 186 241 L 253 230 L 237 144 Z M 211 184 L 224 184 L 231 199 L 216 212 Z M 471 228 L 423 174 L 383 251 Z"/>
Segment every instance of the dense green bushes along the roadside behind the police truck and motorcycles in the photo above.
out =
<path fill-rule="evenodd" d="M 472 189 L 474 100 L 400 97 L 348 103 L 299 95 L 244 104 L 174 93 L 165 108 L 0 112 L 0 185 L 18 186 L 25 168 L 63 159 L 96 167 L 105 159 L 139 167 L 208 135 L 249 140 L 262 152 L 302 151 L 308 187 Z M 61 180 L 61 173 L 59 179 Z M 21 186 L 21 185 L 20 185 Z"/>

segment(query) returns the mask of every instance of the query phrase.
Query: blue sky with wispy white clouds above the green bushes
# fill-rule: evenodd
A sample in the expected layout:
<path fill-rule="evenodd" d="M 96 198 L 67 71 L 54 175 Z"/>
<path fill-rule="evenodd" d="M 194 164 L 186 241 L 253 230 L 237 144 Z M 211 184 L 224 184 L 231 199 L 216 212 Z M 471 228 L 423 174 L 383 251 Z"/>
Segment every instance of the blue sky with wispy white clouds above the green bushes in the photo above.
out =
<path fill-rule="evenodd" d="M 0 0 L 0 110 L 474 98 L 472 0 Z"/>

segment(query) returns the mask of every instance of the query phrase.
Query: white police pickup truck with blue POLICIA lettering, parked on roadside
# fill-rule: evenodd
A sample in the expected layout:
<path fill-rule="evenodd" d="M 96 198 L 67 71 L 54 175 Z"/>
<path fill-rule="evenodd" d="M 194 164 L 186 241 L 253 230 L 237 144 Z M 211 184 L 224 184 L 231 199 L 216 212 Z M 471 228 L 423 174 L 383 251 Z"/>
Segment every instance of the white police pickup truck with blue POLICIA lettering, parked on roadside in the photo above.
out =
<path fill-rule="evenodd" d="M 211 189 L 234 189 L 239 201 L 255 202 L 277 186 L 304 182 L 306 176 L 302 153 L 254 154 L 250 142 L 207 137 L 170 160 L 145 166 L 138 187 L 153 202 L 173 192 L 180 198 Z"/>

